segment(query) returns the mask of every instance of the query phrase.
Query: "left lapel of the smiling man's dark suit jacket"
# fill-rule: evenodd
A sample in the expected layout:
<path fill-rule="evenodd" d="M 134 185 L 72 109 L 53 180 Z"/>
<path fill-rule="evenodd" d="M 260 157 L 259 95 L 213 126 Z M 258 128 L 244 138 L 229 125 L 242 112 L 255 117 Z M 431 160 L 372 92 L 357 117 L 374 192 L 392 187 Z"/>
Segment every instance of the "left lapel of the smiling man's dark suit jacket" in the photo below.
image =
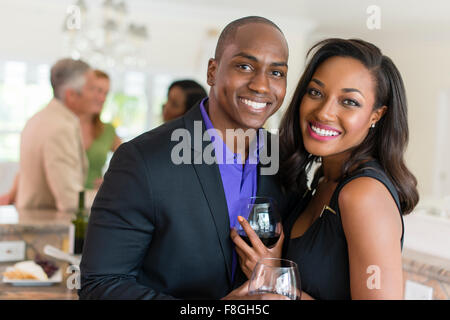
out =
<path fill-rule="evenodd" d="M 206 128 L 199 105 L 192 109 L 193 110 L 188 112 L 184 117 L 186 129 L 191 134 L 192 165 L 197 173 L 203 194 L 208 202 L 222 254 L 226 262 L 228 281 L 231 285 L 233 251 L 230 240 L 230 219 L 222 178 L 217 164 L 214 163 L 208 165 L 203 161 L 203 150 L 211 141 L 203 141 L 202 139 Z M 195 141 L 195 139 L 197 139 L 197 141 Z"/>

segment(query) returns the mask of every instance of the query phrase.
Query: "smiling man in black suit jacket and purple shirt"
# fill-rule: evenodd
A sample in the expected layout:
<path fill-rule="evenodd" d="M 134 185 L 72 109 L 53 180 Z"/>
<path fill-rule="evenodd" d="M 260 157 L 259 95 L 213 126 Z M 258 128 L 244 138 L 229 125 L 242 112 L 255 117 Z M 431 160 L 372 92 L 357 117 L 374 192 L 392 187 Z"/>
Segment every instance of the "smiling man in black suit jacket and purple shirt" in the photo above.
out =
<path fill-rule="evenodd" d="M 230 239 L 238 199 L 285 199 L 273 172 L 263 172 L 272 139 L 251 146 L 283 102 L 287 60 L 271 21 L 233 21 L 208 64 L 209 97 L 120 146 L 91 210 L 81 299 L 219 299 L 242 283 Z M 254 134 L 235 144 L 229 130 Z M 217 163 L 206 161 L 212 149 Z"/>

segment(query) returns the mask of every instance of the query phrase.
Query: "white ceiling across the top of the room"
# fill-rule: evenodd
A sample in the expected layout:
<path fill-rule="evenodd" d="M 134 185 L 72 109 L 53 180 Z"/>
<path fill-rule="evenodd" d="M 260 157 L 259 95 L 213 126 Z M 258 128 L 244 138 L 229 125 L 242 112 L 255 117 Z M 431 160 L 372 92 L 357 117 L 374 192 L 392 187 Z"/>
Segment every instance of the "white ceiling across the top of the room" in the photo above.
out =
<path fill-rule="evenodd" d="M 87 6 L 102 0 L 84 0 Z M 389 29 L 419 30 L 429 26 L 450 27 L 448 0 L 125 0 L 132 16 L 161 19 L 201 19 L 222 23 L 230 16 L 264 15 L 295 22 L 311 20 L 319 29 L 352 30 L 365 24 L 367 7 L 377 5 L 382 23 Z M 0 0 L 3 13 L 42 14 L 67 8 L 75 0 Z M 26 23 L 26 21 L 23 21 Z M 450 29 L 450 28 L 448 28 Z M 447 31 L 448 31 L 447 29 Z M 446 31 L 446 30 L 442 30 Z"/>

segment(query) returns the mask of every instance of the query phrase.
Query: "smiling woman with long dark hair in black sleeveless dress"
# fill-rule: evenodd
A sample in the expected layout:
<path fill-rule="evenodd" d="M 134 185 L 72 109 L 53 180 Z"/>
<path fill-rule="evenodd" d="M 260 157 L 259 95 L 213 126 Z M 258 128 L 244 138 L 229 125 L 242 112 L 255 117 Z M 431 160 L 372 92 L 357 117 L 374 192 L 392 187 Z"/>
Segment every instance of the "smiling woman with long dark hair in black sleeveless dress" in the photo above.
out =
<path fill-rule="evenodd" d="M 402 215 L 419 198 L 403 159 L 402 78 L 362 40 L 311 51 L 280 126 L 281 182 L 298 201 L 271 249 L 245 220 L 252 247 L 232 231 L 241 268 L 250 277 L 260 258 L 282 255 L 298 264 L 303 299 L 402 299 Z"/>

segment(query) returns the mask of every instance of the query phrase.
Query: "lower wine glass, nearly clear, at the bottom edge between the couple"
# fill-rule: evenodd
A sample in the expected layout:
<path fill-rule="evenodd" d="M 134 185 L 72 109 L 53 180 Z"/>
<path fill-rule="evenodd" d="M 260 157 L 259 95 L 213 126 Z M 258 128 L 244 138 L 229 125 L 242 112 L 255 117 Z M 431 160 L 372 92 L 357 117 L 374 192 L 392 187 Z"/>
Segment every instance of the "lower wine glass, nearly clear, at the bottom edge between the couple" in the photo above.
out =
<path fill-rule="evenodd" d="M 300 300 L 301 284 L 297 264 L 278 258 L 263 258 L 253 269 L 248 285 L 250 295 L 275 293 Z"/>

